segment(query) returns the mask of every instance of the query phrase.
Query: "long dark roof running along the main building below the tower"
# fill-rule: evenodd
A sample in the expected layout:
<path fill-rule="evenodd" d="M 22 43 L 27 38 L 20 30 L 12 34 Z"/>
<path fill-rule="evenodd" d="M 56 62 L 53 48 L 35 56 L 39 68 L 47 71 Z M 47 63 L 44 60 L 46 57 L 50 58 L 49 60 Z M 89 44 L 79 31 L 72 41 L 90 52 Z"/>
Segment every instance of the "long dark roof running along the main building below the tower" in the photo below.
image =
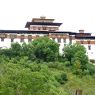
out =
<path fill-rule="evenodd" d="M 85 38 L 94 38 L 94 36 L 90 37 L 80 37 L 76 36 L 76 32 L 70 32 L 70 31 L 30 31 L 30 30 L 0 30 L 0 33 L 16 33 L 16 34 L 49 34 L 49 33 L 54 33 L 54 34 L 69 34 L 69 35 L 75 35 L 77 39 L 85 39 Z M 90 34 L 90 33 L 85 33 L 85 34 Z"/>

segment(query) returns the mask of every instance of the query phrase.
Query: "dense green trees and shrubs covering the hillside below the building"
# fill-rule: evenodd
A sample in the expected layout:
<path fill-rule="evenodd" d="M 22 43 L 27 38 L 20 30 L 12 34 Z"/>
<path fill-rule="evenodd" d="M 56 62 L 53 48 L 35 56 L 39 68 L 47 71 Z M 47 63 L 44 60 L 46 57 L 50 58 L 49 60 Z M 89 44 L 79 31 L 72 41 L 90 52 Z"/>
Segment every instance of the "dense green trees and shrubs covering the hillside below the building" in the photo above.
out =
<path fill-rule="evenodd" d="M 95 66 L 80 44 L 59 44 L 47 37 L 0 49 L 0 95 L 95 95 Z"/>

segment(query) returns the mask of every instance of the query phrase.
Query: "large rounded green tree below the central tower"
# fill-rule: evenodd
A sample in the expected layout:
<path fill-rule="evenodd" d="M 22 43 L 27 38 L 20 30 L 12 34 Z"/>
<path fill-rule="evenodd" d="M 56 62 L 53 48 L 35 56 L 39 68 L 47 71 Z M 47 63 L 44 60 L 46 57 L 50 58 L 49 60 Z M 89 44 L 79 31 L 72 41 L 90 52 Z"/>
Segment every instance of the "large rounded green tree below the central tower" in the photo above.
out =
<path fill-rule="evenodd" d="M 48 37 L 39 37 L 31 44 L 37 59 L 43 61 L 56 61 L 58 59 L 59 45 Z"/>

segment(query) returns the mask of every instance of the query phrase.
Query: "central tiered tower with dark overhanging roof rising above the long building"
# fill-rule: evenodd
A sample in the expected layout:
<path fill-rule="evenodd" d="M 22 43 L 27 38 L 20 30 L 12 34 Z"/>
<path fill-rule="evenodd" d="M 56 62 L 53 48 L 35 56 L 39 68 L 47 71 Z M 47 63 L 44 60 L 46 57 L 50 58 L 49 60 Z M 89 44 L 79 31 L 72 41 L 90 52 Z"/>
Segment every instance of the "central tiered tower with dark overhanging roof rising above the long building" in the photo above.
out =
<path fill-rule="evenodd" d="M 30 31 L 57 31 L 62 23 L 55 23 L 54 19 L 47 19 L 45 16 L 33 18 L 27 22 L 25 28 Z"/>

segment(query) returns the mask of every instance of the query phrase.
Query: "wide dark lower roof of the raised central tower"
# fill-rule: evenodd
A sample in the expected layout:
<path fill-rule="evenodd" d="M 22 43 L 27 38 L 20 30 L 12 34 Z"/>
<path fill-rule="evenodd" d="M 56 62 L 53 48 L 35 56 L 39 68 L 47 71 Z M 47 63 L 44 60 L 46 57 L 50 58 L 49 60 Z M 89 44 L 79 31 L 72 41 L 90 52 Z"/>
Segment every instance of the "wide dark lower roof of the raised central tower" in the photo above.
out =
<path fill-rule="evenodd" d="M 30 25 L 51 25 L 51 26 L 60 26 L 62 23 L 50 23 L 50 22 L 27 22 L 25 28 L 28 28 Z"/>

